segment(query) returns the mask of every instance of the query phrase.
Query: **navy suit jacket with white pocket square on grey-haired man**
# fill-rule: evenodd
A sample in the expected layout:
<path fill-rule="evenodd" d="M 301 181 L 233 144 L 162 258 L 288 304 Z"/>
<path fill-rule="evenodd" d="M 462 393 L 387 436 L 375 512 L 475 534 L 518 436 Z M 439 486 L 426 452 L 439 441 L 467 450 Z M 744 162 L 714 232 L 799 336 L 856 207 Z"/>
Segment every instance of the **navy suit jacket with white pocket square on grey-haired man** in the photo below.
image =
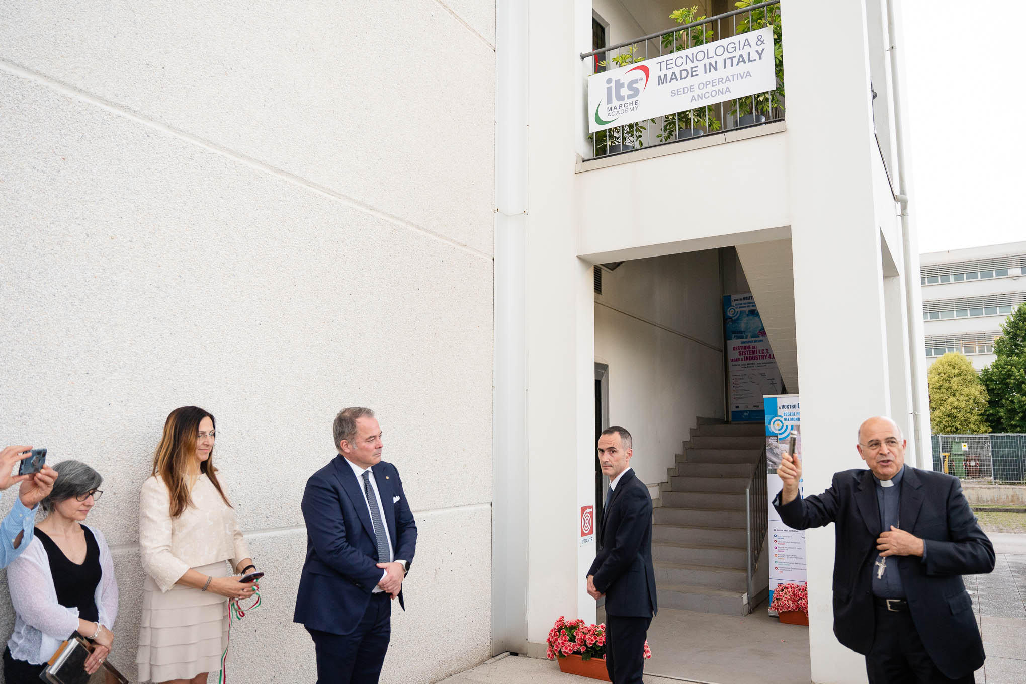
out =
<path fill-rule="evenodd" d="M 417 523 L 395 466 L 371 468 L 395 550 L 393 558 L 413 561 Z M 370 593 L 384 570 L 363 497 L 363 486 L 340 454 L 307 480 L 303 494 L 307 560 L 300 577 L 293 621 L 308 629 L 348 635 L 359 625 Z M 402 592 L 399 604 L 405 610 Z"/>

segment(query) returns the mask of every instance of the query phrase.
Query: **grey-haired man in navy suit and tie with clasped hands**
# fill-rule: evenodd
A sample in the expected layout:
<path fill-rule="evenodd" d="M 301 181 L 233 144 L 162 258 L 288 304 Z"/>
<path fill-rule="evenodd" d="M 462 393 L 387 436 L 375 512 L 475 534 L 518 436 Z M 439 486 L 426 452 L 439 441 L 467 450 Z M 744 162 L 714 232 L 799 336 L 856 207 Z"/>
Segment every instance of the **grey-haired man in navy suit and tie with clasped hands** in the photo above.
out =
<path fill-rule="evenodd" d="M 334 418 L 337 455 L 307 480 L 307 560 L 293 621 L 317 653 L 318 684 L 378 682 L 392 634 L 390 599 L 417 548 L 417 524 L 395 466 L 382 460 L 382 431 L 369 408 Z"/>

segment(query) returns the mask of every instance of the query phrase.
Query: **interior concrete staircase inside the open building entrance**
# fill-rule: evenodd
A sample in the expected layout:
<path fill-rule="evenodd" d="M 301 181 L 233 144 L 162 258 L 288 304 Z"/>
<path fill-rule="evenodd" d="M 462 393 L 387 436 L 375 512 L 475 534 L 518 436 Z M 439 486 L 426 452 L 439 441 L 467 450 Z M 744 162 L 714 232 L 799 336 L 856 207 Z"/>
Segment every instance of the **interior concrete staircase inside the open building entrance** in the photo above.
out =
<path fill-rule="evenodd" d="M 660 485 L 655 509 L 653 562 L 660 608 L 745 615 L 747 545 L 745 487 L 765 445 L 761 424 L 699 418 Z M 763 551 L 765 553 L 765 551 Z M 760 564 L 753 605 L 768 591 Z"/>

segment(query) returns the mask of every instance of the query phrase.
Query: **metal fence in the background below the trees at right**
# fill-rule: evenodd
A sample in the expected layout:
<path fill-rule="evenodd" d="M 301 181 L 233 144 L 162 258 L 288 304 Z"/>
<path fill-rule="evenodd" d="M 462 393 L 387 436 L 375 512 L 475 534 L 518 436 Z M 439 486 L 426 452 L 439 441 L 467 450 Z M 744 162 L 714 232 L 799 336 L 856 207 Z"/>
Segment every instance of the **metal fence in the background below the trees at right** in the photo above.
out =
<path fill-rule="evenodd" d="M 1026 435 L 934 435 L 934 470 L 962 480 L 1026 483 Z"/>

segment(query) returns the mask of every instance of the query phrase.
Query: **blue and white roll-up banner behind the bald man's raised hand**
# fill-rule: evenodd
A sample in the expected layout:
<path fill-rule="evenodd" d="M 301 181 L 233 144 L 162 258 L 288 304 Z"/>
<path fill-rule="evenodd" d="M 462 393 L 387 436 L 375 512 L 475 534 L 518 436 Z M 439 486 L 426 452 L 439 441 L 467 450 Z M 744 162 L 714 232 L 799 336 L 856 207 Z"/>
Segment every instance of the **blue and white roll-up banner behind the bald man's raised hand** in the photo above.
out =
<path fill-rule="evenodd" d="M 795 438 L 794 452 L 801 457 L 801 405 L 798 395 L 777 395 L 763 397 L 765 406 L 766 436 L 766 493 L 770 507 L 770 529 L 767 532 L 770 560 L 770 601 L 778 585 L 805 584 L 805 532 L 791 529 L 780 519 L 773 500 L 784 488 L 783 482 L 777 476 L 781 453 L 787 451 L 788 440 Z M 801 496 L 801 483 L 798 483 L 798 495 Z M 776 610 L 770 611 L 776 615 Z"/>

